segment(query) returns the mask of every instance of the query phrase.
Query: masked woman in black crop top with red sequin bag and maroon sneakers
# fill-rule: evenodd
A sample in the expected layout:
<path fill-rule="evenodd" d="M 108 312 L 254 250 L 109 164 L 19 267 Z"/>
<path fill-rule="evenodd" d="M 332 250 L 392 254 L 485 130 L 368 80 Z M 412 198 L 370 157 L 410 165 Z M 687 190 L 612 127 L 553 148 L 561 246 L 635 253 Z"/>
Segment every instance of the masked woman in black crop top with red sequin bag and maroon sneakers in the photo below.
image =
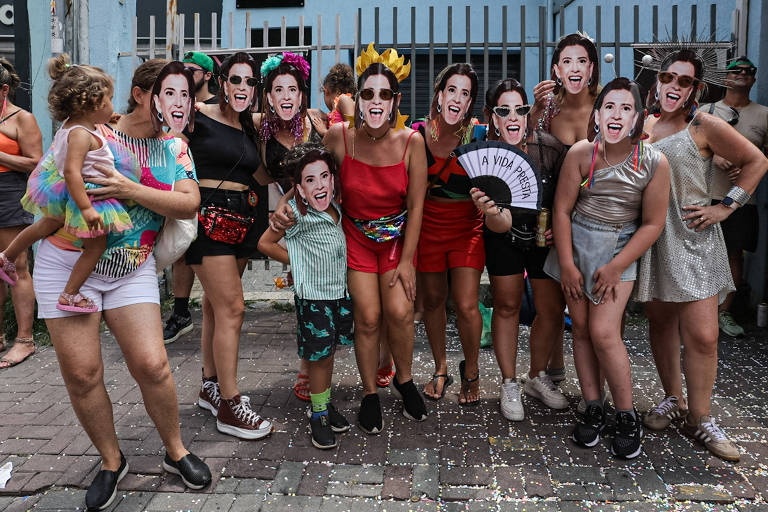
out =
<path fill-rule="evenodd" d="M 186 255 L 204 291 L 198 405 L 216 417 L 220 432 L 259 439 L 272 431 L 272 424 L 251 409 L 237 387 L 245 310 L 240 278 L 263 231 L 253 225 L 258 203 L 253 175 L 261 164 L 251 113 L 258 68 L 248 54 L 239 52 L 224 61 L 220 76 L 218 105 L 201 105 L 194 132 L 184 132 L 200 180 L 198 234 Z M 205 219 L 217 211 L 241 219 L 238 224 L 243 227 L 250 225 L 244 237 L 209 229 L 216 223 Z"/>

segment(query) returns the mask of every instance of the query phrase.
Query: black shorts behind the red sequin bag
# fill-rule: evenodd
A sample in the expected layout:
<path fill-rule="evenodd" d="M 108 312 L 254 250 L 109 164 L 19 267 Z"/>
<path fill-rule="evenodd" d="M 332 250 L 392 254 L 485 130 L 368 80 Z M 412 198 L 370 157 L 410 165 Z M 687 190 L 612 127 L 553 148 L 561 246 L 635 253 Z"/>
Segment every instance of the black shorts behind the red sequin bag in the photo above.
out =
<path fill-rule="evenodd" d="M 203 206 L 223 206 L 233 212 L 254 217 L 254 219 L 258 217 L 256 208 L 248 203 L 247 190 L 240 192 L 219 189 L 214 192 L 214 189 L 201 187 L 200 197 L 205 201 Z M 231 254 L 236 259 L 255 256 L 258 254 L 256 247 L 263 232 L 264 228 L 259 226 L 258 221 L 255 221 L 245 235 L 245 240 L 239 244 L 228 244 L 208 238 L 203 225 L 198 222 L 197 238 L 187 249 L 187 265 L 199 265 L 203 262 L 203 257 L 205 256 L 225 256 Z"/>

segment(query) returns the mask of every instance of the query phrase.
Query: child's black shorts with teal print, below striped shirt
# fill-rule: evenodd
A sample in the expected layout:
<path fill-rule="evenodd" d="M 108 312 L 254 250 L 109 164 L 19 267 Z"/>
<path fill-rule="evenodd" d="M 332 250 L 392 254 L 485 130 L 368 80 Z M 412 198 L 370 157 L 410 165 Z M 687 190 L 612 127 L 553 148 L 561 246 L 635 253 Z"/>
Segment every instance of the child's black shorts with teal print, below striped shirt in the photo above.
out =
<path fill-rule="evenodd" d="M 352 300 L 300 299 L 296 304 L 296 343 L 299 358 L 321 361 L 331 357 L 336 345 L 350 345 L 352 339 Z"/>

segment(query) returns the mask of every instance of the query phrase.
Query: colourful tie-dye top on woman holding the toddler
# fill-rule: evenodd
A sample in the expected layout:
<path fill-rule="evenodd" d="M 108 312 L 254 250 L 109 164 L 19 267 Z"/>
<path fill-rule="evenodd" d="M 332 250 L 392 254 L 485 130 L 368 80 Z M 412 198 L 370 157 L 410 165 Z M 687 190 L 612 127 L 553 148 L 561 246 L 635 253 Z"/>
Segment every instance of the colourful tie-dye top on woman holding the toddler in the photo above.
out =
<path fill-rule="evenodd" d="M 177 137 L 136 139 L 107 125 L 99 131 L 115 155 L 115 167 L 140 169 L 139 182 L 159 190 L 172 190 L 176 181 L 197 181 L 195 165 L 187 144 Z M 96 264 L 94 273 L 110 278 L 130 274 L 144 263 L 155 246 L 158 231 L 165 217 L 133 201 L 123 203 L 131 217 L 133 228 L 107 237 L 107 250 Z M 79 250 L 82 241 L 59 230 L 49 240 L 66 250 Z"/>

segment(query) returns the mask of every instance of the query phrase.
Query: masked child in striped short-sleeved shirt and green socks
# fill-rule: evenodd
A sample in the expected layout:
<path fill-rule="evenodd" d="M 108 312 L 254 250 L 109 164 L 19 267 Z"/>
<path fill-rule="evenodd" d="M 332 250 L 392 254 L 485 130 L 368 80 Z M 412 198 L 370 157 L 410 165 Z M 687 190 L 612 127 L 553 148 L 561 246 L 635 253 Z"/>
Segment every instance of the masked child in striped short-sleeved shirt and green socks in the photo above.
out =
<path fill-rule="evenodd" d="M 283 167 L 294 183 L 295 195 L 288 204 L 296 224 L 285 231 L 268 229 L 258 247 L 270 258 L 291 264 L 299 357 L 309 363 L 312 444 L 328 449 L 336 446 L 335 433 L 350 428 L 331 404 L 336 345 L 352 343 L 347 246 L 334 200 L 336 161 L 321 144 L 305 143 L 286 154 Z M 283 237 L 287 249 L 277 243 Z"/>

